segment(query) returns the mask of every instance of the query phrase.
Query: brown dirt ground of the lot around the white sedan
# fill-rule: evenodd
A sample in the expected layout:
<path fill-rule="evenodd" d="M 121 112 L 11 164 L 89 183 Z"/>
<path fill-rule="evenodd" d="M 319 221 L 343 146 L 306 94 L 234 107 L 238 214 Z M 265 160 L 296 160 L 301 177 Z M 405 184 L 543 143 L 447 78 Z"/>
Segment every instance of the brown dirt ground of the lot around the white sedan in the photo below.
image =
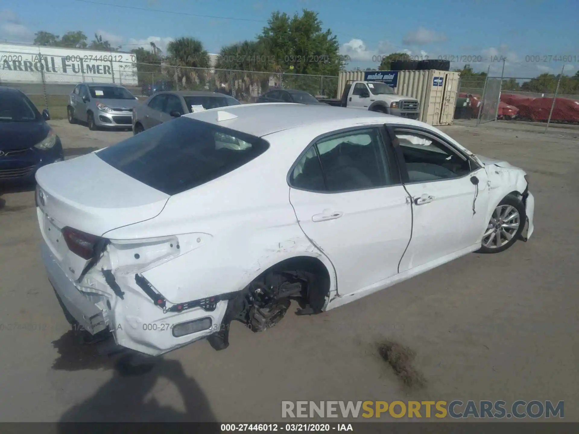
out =
<path fill-rule="evenodd" d="M 52 124 L 68 157 L 131 134 Z M 34 193 L 3 192 L 0 421 L 266 422 L 281 420 L 282 400 L 399 399 L 564 400 L 565 420 L 579 421 L 579 141 L 442 129 L 527 171 L 536 198 L 529 242 L 472 253 L 313 317 L 292 306 L 263 333 L 234 323 L 227 350 L 200 341 L 150 369 L 74 343 L 41 262 Z M 387 365 L 384 341 L 412 353 L 423 388 Z"/>

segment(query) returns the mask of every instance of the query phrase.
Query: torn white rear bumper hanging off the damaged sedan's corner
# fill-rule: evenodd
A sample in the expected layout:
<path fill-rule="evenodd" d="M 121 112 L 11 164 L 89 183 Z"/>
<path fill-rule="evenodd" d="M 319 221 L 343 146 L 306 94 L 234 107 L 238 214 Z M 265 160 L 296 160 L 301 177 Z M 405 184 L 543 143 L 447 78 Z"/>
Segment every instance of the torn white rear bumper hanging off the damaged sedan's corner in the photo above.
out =
<path fill-rule="evenodd" d="M 142 285 L 146 279 L 139 274 L 115 278 L 110 271 L 95 273 L 95 267 L 81 285 L 64 273 L 46 242 L 41 251 L 49 280 L 64 306 L 91 334 L 108 329 L 116 344 L 157 356 L 219 331 L 226 296 L 167 306 L 166 300 L 153 300 L 145 293 Z"/>

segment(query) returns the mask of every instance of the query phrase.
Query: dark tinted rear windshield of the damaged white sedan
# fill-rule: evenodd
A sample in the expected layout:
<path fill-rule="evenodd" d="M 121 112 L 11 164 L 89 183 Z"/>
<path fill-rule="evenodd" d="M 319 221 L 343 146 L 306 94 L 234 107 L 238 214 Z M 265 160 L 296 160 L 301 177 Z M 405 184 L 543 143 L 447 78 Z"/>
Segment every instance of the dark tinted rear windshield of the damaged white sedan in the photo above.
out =
<path fill-rule="evenodd" d="M 179 117 L 97 152 L 112 167 L 177 194 L 241 167 L 269 144 L 253 135 Z"/>

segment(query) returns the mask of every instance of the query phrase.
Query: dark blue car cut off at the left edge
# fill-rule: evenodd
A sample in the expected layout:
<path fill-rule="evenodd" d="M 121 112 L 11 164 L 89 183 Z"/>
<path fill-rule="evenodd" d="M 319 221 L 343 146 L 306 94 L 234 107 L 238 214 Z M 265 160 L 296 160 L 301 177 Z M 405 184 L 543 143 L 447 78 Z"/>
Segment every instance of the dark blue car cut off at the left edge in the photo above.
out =
<path fill-rule="evenodd" d="M 32 181 L 39 167 L 64 159 L 49 119 L 20 90 L 0 86 L 0 183 Z"/>

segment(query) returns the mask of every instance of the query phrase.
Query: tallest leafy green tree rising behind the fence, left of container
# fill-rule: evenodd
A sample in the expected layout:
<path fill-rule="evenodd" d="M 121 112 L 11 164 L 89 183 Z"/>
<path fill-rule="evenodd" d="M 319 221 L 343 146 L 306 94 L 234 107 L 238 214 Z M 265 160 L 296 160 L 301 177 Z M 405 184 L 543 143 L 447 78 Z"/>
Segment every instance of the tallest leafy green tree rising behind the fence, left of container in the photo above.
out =
<path fill-rule="evenodd" d="M 318 14 L 302 10 L 301 16 L 273 12 L 258 41 L 269 54 L 274 70 L 284 72 L 283 86 L 317 94 L 320 77 L 309 75 L 338 75 L 345 66 L 339 54 L 339 42 L 330 29 L 324 30 Z"/>

